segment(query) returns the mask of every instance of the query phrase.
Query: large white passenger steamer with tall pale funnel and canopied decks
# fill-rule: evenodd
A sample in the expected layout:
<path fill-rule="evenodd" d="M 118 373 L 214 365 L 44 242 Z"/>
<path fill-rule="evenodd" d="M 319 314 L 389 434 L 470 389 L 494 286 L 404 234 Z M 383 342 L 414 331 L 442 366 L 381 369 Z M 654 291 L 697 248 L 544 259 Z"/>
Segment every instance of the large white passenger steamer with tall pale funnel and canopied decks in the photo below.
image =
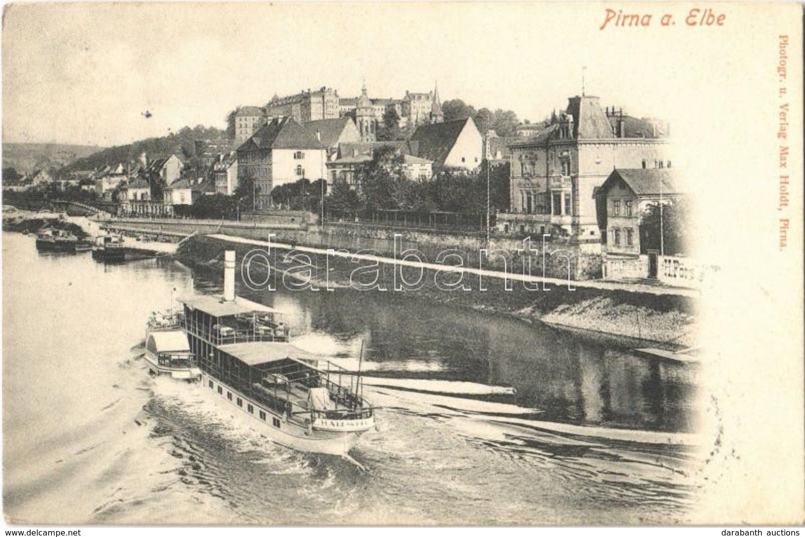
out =
<path fill-rule="evenodd" d="M 360 378 L 292 345 L 281 312 L 236 297 L 234 282 L 235 252 L 227 251 L 222 297 L 178 299 L 202 389 L 280 445 L 348 457 L 375 426 Z"/>

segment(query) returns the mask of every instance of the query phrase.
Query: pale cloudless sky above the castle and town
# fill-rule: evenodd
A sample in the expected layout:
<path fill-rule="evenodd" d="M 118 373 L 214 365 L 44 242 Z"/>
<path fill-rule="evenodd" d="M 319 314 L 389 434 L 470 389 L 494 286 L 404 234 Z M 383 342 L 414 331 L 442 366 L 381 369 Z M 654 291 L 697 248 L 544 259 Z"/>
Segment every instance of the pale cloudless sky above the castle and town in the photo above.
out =
<path fill-rule="evenodd" d="M 581 92 L 583 66 L 603 105 L 672 119 L 729 43 L 706 30 L 601 31 L 604 18 L 597 2 L 6 6 L 3 141 L 112 146 L 223 128 L 237 105 L 324 85 L 356 96 L 364 79 L 369 96 L 438 81 L 442 100 L 539 121 Z"/>

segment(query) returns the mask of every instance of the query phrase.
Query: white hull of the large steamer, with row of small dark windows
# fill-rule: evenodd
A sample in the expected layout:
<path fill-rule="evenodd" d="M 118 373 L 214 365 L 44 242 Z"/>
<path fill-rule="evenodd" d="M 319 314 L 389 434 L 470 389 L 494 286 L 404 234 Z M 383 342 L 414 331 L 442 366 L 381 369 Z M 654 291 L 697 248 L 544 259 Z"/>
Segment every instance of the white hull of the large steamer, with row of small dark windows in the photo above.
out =
<path fill-rule="evenodd" d="M 203 373 L 201 387 L 206 396 L 221 407 L 242 417 L 245 423 L 263 436 L 279 445 L 308 453 L 324 453 L 344 457 L 357 437 L 365 431 L 318 431 L 287 420 L 286 416 L 243 395 L 217 378 Z M 241 401 L 238 404 L 238 400 Z M 250 408 L 252 412 L 250 412 Z"/>

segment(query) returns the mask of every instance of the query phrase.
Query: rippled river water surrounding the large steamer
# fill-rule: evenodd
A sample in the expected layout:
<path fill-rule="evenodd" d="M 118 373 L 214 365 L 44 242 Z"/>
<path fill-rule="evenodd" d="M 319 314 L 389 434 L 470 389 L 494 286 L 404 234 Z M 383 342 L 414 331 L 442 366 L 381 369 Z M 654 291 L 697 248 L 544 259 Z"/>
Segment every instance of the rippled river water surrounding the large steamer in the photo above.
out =
<path fill-rule="evenodd" d="M 393 293 L 245 293 L 356 370 L 378 430 L 272 445 L 197 385 L 151 379 L 144 322 L 221 277 L 105 265 L 4 233 L 3 500 L 17 523 L 673 523 L 696 502 L 696 367 Z"/>

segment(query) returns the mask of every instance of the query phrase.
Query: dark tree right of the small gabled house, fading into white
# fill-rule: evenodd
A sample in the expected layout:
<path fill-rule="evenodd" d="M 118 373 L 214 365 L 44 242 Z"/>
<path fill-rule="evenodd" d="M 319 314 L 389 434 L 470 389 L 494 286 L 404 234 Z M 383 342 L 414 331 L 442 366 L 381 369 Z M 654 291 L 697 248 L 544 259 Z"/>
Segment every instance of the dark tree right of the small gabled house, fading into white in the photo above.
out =
<path fill-rule="evenodd" d="M 671 200 L 668 200 L 670 202 Z M 666 256 L 687 254 L 690 252 L 691 229 L 690 211 L 686 201 L 675 199 L 672 203 L 663 203 L 662 229 L 663 243 L 660 243 L 660 206 L 654 203 L 646 207 L 640 222 L 640 252 L 657 250 Z"/>

